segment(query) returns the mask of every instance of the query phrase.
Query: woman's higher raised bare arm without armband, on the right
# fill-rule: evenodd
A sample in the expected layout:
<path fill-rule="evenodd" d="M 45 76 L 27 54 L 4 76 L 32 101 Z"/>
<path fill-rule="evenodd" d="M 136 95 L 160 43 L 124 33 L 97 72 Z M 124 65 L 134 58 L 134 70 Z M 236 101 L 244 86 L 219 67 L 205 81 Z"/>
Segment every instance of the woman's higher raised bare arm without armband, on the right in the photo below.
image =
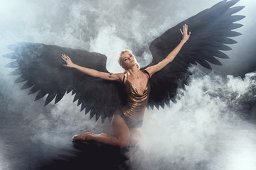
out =
<path fill-rule="evenodd" d="M 176 55 L 178 55 L 178 52 L 181 50 L 181 47 L 185 44 L 185 42 L 188 40 L 188 38 L 191 35 L 191 32 L 188 33 L 188 26 L 185 24 L 183 26 L 183 31 L 180 29 L 182 40 L 181 42 L 172 50 L 167 57 L 159 62 L 158 64 L 146 68 L 146 71 L 149 72 L 150 76 L 152 76 L 154 73 L 159 72 L 159 70 L 163 69 L 167 64 L 172 62 Z"/>

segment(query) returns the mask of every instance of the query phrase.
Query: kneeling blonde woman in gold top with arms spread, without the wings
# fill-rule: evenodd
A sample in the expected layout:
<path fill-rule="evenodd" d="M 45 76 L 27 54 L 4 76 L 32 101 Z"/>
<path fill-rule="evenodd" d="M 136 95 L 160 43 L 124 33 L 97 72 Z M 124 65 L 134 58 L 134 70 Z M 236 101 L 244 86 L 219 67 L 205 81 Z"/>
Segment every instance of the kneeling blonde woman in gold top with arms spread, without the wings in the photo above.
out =
<path fill-rule="evenodd" d="M 128 145 L 137 143 L 138 137 L 142 134 L 142 120 L 147 99 L 149 98 L 149 79 L 154 73 L 163 69 L 169 62 L 174 60 L 174 57 L 176 57 L 181 47 L 191 35 L 190 32 L 188 33 L 188 26 L 186 26 L 186 24 L 183 26 L 183 30 L 180 29 L 180 31 L 182 40 L 174 50 L 172 50 L 164 60 L 154 66 L 146 68 L 144 72 L 139 70 L 139 64 L 129 50 L 124 50 L 119 55 L 119 64 L 125 72 L 116 74 L 108 74 L 98 72 L 95 69 L 81 67 L 74 64 L 67 55 L 61 56 L 66 62 L 63 66 L 78 69 L 80 72 L 84 72 L 92 77 L 119 81 L 121 84 L 124 84 L 124 89 L 127 94 L 127 104 L 122 108 L 122 113 L 114 115 L 114 119 L 112 120 L 114 135 L 108 135 L 105 132 L 101 134 L 87 132 L 82 135 L 73 136 L 72 140 L 92 140 L 117 147 L 127 147 Z"/>

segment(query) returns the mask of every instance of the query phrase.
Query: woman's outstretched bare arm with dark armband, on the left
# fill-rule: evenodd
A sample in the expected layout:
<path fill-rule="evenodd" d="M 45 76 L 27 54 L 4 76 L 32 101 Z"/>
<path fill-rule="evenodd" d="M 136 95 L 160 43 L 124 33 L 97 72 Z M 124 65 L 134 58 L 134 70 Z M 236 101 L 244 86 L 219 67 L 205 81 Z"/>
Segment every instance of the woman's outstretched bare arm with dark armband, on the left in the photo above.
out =
<path fill-rule="evenodd" d="M 68 55 L 62 55 L 62 59 L 67 63 L 63 64 L 64 67 L 70 67 L 74 69 L 78 69 L 80 72 L 83 72 L 85 74 L 88 74 L 92 77 L 99 77 L 100 79 L 107 79 L 107 80 L 113 80 L 113 81 L 122 81 L 122 73 L 115 73 L 110 74 L 106 72 L 99 72 L 95 69 L 89 69 L 86 67 L 79 66 L 78 64 L 74 64 Z"/>

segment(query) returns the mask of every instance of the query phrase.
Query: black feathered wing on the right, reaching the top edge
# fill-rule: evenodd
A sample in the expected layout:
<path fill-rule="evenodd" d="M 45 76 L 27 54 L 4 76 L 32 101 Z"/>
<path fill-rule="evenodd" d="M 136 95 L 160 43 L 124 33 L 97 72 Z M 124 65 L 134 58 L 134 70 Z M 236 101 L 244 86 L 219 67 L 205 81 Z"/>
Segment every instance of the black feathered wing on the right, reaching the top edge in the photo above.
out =
<path fill-rule="evenodd" d="M 177 26 L 167 30 L 159 38 L 151 42 L 149 50 L 153 55 L 151 65 L 161 62 L 181 40 L 179 28 L 184 24 L 188 25 L 191 31 L 191 37 L 182 47 L 173 62 L 168 64 L 164 69 L 151 77 L 151 94 L 149 96 L 148 106 L 151 108 L 164 108 L 164 103 L 169 105 L 169 101 L 175 102 L 178 86 L 183 86 L 188 77 L 188 67 L 191 64 L 199 63 L 203 67 L 211 69 L 210 64 L 220 65 L 221 63 L 215 58 L 228 58 L 221 51 L 231 50 L 226 44 L 235 44 L 235 40 L 228 37 L 240 35 L 233 31 L 242 25 L 234 23 L 240 21 L 245 16 L 232 16 L 244 6 L 236 6 L 239 0 L 220 1 L 215 6 L 201 11 L 196 16 L 188 18 L 186 21 L 178 23 Z M 145 67 L 145 68 L 146 68 Z M 143 69 L 143 68 L 142 68 Z"/>

